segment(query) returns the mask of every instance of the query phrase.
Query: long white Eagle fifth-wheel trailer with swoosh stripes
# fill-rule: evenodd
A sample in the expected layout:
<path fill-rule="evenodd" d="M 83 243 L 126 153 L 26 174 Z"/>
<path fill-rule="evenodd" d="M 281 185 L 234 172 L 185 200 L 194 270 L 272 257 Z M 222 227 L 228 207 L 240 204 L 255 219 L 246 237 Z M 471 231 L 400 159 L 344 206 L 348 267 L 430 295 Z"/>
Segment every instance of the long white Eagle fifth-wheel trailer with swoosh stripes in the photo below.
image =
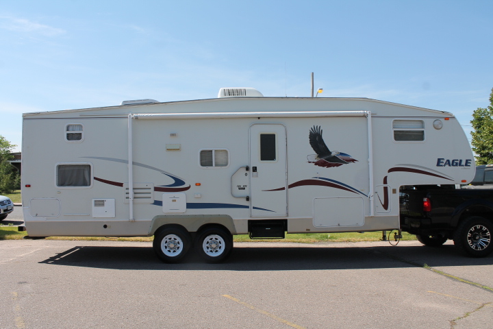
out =
<path fill-rule="evenodd" d="M 465 184 L 453 114 L 366 98 L 218 98 L 23 114 L 29 236 L 155 236 L 210 262 L 234 234 L 399 230 L 399 187 Z"/>

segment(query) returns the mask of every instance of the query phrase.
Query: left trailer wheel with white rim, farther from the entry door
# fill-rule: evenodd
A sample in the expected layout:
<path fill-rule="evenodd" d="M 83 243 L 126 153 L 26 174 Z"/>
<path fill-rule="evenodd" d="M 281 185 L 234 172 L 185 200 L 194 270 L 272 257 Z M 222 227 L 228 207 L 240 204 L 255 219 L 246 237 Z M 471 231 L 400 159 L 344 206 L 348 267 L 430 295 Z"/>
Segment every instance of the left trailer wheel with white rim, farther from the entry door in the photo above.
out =
<path fill-rule="evenodd" d="M 192 245 L 192 238 L 184 228 L 171 226 L 154 235 L 153 248 L 164 263 L 179 263 Z"/>

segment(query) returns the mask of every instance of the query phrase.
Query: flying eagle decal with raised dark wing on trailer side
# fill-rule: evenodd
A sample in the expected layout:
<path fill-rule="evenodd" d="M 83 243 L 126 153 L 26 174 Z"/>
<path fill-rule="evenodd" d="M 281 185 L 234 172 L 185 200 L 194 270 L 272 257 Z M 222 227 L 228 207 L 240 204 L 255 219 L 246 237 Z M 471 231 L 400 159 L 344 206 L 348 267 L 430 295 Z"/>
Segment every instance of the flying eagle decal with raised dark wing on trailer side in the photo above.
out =
<path fill-rule="evenodd" d="M 331 168 L 339 167 L 342 164 L 348 164 L 350 162 L 357 162 L 349 154 L 340 151 L 330 151 L 322 138 L 322 132 L 323 130 L 320 129 L 320 125 L 314 125 L 314 127 L 310 128 L 309 142 L 316 154 L 307 156 L 309 163 L 314 163 L 318 167 Z"/>

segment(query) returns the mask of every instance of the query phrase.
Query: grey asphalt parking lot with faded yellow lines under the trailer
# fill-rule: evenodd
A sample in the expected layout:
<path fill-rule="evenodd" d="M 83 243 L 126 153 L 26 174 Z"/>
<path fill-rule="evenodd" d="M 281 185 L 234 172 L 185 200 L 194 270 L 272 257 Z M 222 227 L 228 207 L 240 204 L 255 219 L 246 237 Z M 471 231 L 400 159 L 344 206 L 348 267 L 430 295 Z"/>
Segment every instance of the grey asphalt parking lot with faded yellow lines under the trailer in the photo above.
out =
<path fill-rule="evenodd" d="M 0 241 L 0 328 L 492 328 L 493 257 L 402 241 L 236 243 L 228 263 L 151 243 Z"/>

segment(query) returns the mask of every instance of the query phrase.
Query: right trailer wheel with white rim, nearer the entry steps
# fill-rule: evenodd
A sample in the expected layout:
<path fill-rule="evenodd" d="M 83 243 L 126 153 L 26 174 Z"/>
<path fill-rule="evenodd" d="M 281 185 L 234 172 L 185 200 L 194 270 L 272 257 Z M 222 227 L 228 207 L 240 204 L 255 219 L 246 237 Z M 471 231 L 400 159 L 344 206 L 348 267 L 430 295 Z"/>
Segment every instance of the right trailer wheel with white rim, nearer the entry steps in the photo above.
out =
<path fill-rule="evenodd" d="M 224 228 L 206 228 L 198 232 L 195 248 L 207 263 L 221 263 L 233 251 L 233 235 Z"/>

